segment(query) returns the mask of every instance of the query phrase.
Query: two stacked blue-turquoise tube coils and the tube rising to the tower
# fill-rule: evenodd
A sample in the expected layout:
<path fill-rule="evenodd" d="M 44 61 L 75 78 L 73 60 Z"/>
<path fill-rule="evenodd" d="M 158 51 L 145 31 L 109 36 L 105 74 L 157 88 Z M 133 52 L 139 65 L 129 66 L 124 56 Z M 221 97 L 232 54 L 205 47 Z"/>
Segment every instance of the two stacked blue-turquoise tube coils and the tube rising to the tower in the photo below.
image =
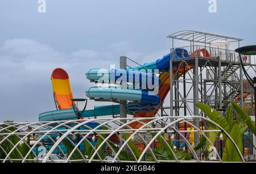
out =
<path fill-rule="evenodd" d="M 129 79 L 137 80 L 135 83 L 142 83 L 142 78 L 134 78 L 134 75 L 139 75 L 139 77 L 147 78 L 151 74 L 148 73 L 140 73 L 139 70 L 154 70 L 159 69 L 160 71 L 168 71 L 170 70 L 170 60 L 171 58 L 182 59 L 189 57 L 187 50 L 182 48 L 175 49 L 174 53 L 167 54 L 163 58 L 151 62 L 145 63 L 143 66 L 132 67 L 131 70 L 138 71 L 130 71 L 130 70 L 101 70 L 101 69 L 91 69 L 86 73 L 86 78 L 95 82 L 99 79 L 106 80 L 110 83 L 115 83 L 121 75 L 127 75 L 127 82 Z M 174 65 L 176 66 L 176 65 Z M 137 74 L 136 74 L 137 73 Z M 104 76 L 107 74 L 106 76 Z M 159 77 L 155 75 L 151 75 L 150 78 L 158 79 Z M 113 79 L 113 80 L 111 80 Z M 160 86 L 160 83 L 159 83 Z M 135 107 L 127 107 L 127 111 L 136 111 L 135 108 L 138 107 L 156 107 L 160 104 L 160 98 L 158 95 L 152 95 L 148 92 L 141 90 L 126 90 L 121 88 L 97 88 L 93 87 L 86 91 L 86 96 L 90 98 L 101 98 L 101 99 L 117 99 L 117 100 L 128 100 L 128 101 L 139 101 L 139 104 L 135 105 Z M 141 111 L 141 109 L 137 109 L 137 111 Z"/>

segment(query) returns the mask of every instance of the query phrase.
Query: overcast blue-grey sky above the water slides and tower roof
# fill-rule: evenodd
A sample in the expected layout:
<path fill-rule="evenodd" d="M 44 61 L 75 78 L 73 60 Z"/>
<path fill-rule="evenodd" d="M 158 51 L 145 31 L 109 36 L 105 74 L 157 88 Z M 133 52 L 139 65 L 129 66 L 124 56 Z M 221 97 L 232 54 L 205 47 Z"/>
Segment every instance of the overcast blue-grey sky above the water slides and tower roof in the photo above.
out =
<path fill-rule="evenodd" d="M 68 71 L 75 97 L 92 86 L 90 68 L 109 68 L 119 56 L 140 63 L 168 53 L 166 36 L 184 29 L 256 43 L 256 1 L 217 0 L 0 0 L 0 121 L 38 121 L 55 109 L 51 73 Z M 89 108 L 95 103 L 90 101 Z"/>

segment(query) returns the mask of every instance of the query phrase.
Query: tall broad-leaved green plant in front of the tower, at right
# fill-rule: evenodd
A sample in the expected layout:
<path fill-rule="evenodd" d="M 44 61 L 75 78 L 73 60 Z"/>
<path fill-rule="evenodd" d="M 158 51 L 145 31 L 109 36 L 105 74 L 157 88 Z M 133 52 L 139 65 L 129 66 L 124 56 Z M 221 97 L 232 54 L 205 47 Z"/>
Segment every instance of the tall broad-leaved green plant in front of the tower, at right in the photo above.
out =
<path fill-rule="evenodd" d="M 255 123 L 251 120 L 250 116 L 248 116 L 243 109 L 232 102 L 228 107 L 226 112 L 226 117 L 220 116 L 220 113 L 216 109 L 212 109 L 208 105 L 197 103 L 196 104 L 199 109 L 207 116 L 210 120 L 214 121 L 216 124 L 220 125 L 222 129 L 224 129 L 230 137 L 232 137 L 233 141 L 236 143 L 240 152 L 242 151 L 242 135 L 245 133 L 245 129 L 248 127 L 253 131 L 255 135 Z M 237 119 L 233 118 L 233 109 L 237 112 Z M 209 130 L 219 130 L 219 128 L 211 123 L 209 123 Z M 208 138 L 210 142 L 215 143 L 216 139 L 220 136 L 220 132 L 210 132 L 208 133 Z M 209 142 L 207 142 L 206 138 L 201 138 L 200 142 L 196 145 L 195 150 L 199 150 L 204 146 L 209 146 Z M 222 155 L 222 160 L 225 162 L 241 162 L 240 155 L 237 152 L 236 147 L 230 141 L 230 139 L 224 134 L 224 152 Z"/>

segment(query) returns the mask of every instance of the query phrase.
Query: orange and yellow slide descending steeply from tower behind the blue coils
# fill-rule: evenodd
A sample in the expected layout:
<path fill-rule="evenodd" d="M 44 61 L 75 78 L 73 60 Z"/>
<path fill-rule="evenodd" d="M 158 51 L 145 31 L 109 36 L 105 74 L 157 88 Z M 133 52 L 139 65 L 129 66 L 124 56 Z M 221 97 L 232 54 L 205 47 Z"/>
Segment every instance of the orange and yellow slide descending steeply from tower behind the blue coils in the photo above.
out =
<path fill-rule="evenodd" d="M 179 65 L 174 67 L 174 73 L 176 73 L 177 71 L 177 67 L 179 67 Z M 189 70 L 193 69 L 193 65 L 189 65 L 189 66 L 185 66 L 185 72 L 184 69 L 181 68 L 179 69 L 178 73 L 178 77 L 181 77 L 183 74 L 187 73 Z M 161 80 L 161 85 L 159 87 L 159 93 L 158 95 L 160 96 L 160 99 L 162 101 L 162 103 L 164 102 L 164 99 L 166 99 L 167 94 L 170 91 L 170 72 L 166 72 L 163 73 L 159 76 L 160 80 Z M 155 109 L 154 111 L 154 116 L 156 115 L 156 113 L 158 113 L 159 109 Z M 152 116 L 152 112 L 139 112 L 137 114 L 134 115 L 134 118 L 137 117 L 154 117 Z M 143 122 L 148 122 L 148 120 L 144 120 Z M 139 122 L 134 122 L 133 124 L 130 124 L 130 126 L 134 129 L 138 129 L 141 128 L 142 124 Z"/>

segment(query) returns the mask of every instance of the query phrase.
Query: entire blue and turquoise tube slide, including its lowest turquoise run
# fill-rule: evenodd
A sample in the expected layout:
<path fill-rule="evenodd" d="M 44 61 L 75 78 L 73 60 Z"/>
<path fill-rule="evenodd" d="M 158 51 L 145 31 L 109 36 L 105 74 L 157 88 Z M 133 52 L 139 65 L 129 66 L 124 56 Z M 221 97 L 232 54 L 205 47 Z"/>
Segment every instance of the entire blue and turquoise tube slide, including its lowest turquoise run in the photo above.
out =
<path fill-rule="evenodd" d="M 166 56 L 157 61 L 145 63 L 143 66 L 132 67 L 127 70 L 102 71 L 99 69 L 91 69 L 88 71 L 88 73 L 86 73 L 86 78 L 89 79 L 91 82 L 105 80 L 109 83 L 116 83 L 120 79 L 123 72 L 126 73 L 127 82 L 129 82 L 130 79 L 133 79 L 134 83 L 131 84 L 133 86 L 132 89 L 122 89 L 120 87 L 92 87 L 86 91 L 86 96 L 90 97 L 90 99 L 127 100 L 127 112 L 131 113 L 145 111 L 145 107 L 151 107 L 152 109 L 157 108 L 161 104 L 160 97 L 158 96 L 158 94 L 152 93 L 150 89 L 144 89 L 145 86 L 143 86 L 143 79 L 150 80 L 151 82 L 153 82 L 152 84 L 154 84 L 154 82 L 158 82 L 160 86 L 162 82 L 160 81 L 159 77 L 156 75 L 152 75 L 151 73 L 147 73 L 147 70 L 158 69 L 161 73 L 164 71 L 169 71 L 170 60 L 172 57 L 175 59 L 184 59 L 190 56 L 187 50 L 177 48 L 175 49 L 174 53 L 167 54 Z M 174 67 L 175 66 L 177 65 L 174 63 Z M 145 73 L 133 70 L 144 70 Z M 102 73 L 106 73 L 108 75 L 103 76 Z M 110 116 L 114 114 L 119 114 L 118 104 L 94 107 L 94 109 L 92 110 L 85 111 L 82 117 Z M 40 121 L 67 119 L 76 119 L 75 113 L 73 113 L 73 109 L 71 108 L 44 112 L 39 115 Z"/>

